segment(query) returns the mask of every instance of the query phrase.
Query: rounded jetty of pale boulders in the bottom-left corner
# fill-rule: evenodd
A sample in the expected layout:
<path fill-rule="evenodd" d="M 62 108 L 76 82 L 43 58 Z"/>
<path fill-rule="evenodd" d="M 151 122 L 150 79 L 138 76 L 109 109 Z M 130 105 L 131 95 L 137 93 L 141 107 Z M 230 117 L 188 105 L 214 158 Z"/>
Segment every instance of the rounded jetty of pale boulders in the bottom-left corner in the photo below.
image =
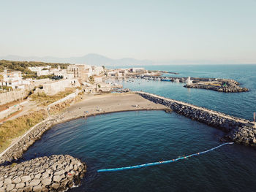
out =
<path fill-rule="evenodd" d="M 0 166 L 0 192 L 66 191 L 80 184 L 86 165 L 70 155 L 34 158 Z"/>

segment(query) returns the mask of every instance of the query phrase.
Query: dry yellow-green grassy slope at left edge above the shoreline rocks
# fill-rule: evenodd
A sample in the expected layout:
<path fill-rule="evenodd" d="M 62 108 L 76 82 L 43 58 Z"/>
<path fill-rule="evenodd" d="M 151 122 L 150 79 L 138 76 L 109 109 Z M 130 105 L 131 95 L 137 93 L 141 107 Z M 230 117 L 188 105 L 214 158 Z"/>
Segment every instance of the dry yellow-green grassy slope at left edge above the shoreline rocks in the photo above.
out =
<path fill-rule="evenodd" d="M 12 139 L 19 137 L 29 130 L 32 126 L 47 118 L 45 110 L 31 112 L 15 120 L 8 120 L 0 126 L 0 151 L 8 147 Z"/>

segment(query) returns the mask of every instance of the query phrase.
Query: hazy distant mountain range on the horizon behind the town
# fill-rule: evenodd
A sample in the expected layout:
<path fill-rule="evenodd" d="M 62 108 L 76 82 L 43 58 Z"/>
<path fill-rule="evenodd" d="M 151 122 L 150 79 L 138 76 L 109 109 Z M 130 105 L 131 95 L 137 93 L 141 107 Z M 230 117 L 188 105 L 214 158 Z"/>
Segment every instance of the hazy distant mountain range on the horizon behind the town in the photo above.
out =
<path fill-rule="evenodd" d="M 69 63 L 69 64 L 88 64 L 91 66 L 143 66 L 152 65 L 153 61 L 137 60 L 134 58 L 112 59 L 98 54 L 88 54 L 82 57 L 56 58 L 56 57 L 23 57 L 18 55 L 0 56 L 0 60 L 10 61 L 42 61 L 48 63 Z"/>

